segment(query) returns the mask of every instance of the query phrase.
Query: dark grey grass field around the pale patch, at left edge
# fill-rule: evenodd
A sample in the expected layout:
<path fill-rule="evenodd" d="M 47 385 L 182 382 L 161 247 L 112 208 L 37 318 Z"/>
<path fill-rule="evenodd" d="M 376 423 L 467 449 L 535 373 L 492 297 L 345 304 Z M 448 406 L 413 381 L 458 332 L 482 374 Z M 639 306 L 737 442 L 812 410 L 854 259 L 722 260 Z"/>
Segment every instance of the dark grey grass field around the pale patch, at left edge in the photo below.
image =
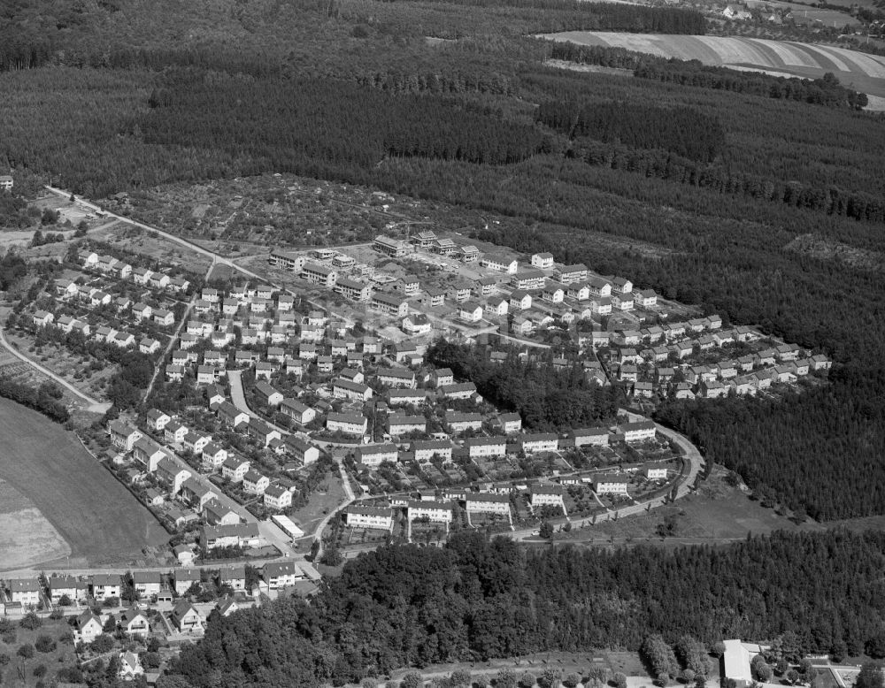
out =
<path fill-rule="evenodd" d="M 156 519 L 96 462 L 72 432 L 36 411 L 0 399 L 0 479 L 46 518 L 71 548 L 71 564 L 125 563 L 168 536 Z M 30 533 L 19 536 L 26 543 Z M 39 549 L 37 550 L 39 553 Z M 62 554 L 64 556 L 64 554 Z M 42 562 L 58 562 L 47 552 Z M 0 552 L 0 566 L 9 570 Z"/>

